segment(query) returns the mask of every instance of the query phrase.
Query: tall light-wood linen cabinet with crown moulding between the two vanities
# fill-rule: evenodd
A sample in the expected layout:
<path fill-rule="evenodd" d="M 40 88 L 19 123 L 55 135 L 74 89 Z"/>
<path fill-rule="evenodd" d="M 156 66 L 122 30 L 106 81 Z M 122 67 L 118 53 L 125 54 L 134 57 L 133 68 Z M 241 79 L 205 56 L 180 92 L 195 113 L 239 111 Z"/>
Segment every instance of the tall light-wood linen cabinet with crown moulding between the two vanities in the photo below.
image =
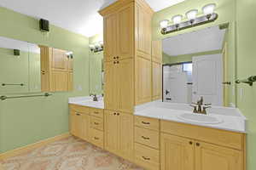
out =
<path fill-rule="evenodd" d="M 144 0 L 119 0 L 104 18 L 104 148 L 133 161 L 133 111 L 152 99 L 151 20 Z"/>

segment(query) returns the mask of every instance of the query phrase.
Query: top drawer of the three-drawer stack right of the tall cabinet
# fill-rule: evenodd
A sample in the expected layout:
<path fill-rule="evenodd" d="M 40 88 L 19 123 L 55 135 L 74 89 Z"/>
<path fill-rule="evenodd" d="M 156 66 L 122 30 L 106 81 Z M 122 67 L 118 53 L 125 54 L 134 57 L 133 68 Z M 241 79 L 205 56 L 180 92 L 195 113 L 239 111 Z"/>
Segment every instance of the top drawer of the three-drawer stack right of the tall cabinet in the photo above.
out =
<path fill-rule="evenodd" d="M 151 130 L 160 130 L 160 120 L 148 117 L 135 116 L 135 125 L 137 127 L 144 127 Z"/>

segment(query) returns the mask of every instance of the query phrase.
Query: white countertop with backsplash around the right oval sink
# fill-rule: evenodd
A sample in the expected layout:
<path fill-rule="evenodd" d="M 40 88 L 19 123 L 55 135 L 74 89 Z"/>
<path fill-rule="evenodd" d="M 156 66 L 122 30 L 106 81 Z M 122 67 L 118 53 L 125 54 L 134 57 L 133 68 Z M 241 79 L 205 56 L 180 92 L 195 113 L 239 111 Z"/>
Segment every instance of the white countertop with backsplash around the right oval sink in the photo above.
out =
<path fill-rule="evenodd" d="M 193 114 L 192 111 L 193 108 L 187 104 L 172 104 L 154 101 L 144 105 L 137 105 L 135 107 L 134 115 L 172 122 L 183 122 L 202 127 L 224 129 L 237 133 L 246 133 L 246 117 L 243 116 L 237 108 L 213 106 L 211 109 L 208 109 L 208 116 L 213 116 L 222 120 L 222 122 L 218 124 L 189 122 L 178 117 L 184 113 Z"/>

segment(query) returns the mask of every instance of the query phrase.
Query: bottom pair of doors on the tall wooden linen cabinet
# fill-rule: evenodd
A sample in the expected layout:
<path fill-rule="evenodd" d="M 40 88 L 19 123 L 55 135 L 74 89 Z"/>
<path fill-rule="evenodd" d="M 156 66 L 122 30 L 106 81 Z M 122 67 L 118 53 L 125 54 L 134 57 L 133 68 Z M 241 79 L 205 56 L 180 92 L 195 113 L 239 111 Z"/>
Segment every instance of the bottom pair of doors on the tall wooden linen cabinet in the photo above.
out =
<path fill-rule="evenodd" d="M 133 116 L 123 112 L 106 111 L 104 118 L 105 149 L 133 160 Z"/>

